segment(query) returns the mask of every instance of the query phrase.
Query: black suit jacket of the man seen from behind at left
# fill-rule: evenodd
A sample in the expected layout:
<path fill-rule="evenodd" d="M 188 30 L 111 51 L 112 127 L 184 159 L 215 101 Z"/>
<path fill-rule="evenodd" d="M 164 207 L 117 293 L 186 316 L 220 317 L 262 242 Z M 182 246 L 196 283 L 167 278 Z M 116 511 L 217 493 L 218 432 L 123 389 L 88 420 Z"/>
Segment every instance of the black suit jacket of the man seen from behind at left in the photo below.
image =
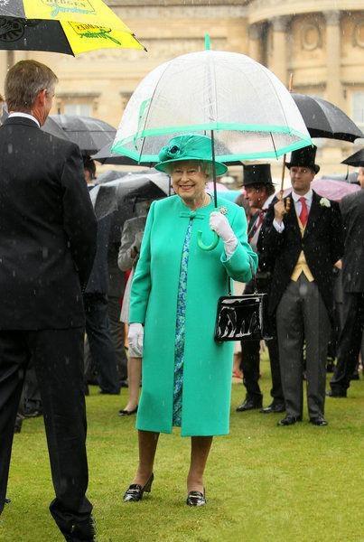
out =
<path fill-rule="evenodd" d="M 79 147 L 31 119 L 0 127 L 0 329 L 84 324 L 97 222 Z"/>

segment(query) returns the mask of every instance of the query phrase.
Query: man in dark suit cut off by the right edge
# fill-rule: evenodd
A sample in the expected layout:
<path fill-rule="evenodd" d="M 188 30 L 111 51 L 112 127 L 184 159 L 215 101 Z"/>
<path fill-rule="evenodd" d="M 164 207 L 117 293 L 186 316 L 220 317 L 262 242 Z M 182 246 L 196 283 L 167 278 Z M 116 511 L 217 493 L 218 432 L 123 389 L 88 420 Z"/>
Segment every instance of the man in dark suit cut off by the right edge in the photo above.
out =
<path fill-rule="evenodd" d="M 343 325 L 338 361 L 331 378 L 330 397 L 346 397 L 356 368 L 364 330 L 364 167 L 358 175 L 361 190 L 341 200 L 345 233 L 342 257 Z"/>

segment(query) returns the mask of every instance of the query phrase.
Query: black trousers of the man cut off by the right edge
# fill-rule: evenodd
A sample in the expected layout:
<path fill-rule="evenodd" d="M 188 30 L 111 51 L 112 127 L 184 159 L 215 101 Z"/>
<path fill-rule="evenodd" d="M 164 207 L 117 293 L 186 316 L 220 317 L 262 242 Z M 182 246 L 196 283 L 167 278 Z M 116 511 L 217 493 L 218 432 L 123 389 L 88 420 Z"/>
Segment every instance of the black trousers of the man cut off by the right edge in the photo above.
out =
<path fill-rule="evenodd" d="M 364 293 L 344 292 L 344 322 L 338 344 L 338 361 L 330 381 L 333 392 L 350 387 L 359 358 L 364 330 Z"/>

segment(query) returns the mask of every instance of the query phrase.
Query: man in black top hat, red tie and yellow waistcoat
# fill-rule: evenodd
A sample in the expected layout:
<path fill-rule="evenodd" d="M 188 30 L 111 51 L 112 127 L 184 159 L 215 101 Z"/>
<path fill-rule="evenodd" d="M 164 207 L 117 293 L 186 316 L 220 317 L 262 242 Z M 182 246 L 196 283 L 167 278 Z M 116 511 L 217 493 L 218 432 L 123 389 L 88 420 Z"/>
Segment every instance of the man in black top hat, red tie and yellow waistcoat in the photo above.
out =
<path fill-rule="evenodd" d="M 258 248 L 274 259 L 269 311 L 276 315 L 286 416 L 278 425 L 293 425 L 303 416 L 303 343 L 310 422 L 324 418 L 326 354 L 332 308 L 332 267 L 342 256 L 338 203 L 311 188 L 320 167 L 316 147 L 294 151 L 286 164 L 292 193 L 266 213 Z"/>

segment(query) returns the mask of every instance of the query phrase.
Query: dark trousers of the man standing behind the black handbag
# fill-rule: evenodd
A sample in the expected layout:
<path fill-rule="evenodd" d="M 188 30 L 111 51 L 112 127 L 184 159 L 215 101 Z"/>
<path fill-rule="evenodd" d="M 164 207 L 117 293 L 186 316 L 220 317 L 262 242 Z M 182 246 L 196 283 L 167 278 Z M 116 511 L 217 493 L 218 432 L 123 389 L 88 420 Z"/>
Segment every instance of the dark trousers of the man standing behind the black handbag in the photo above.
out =
<path fill-rule="evenodd" d="M 257 279 L 257 290 L 261 294 L 266 294 L 269 290 L 268 279 Z M 245 294 L 252 294 L 254 292 L 254 284 L 250 281 L 245 290 Z M 272 388 L 270 391 L 271 397 L 275 404 L 285 404 L 285 398 L 283 395 L 281 370 L 279 367 L 279 351 L 278 341 L 276 339 L 275 322 L 273 318 L 266 314 L 266 318 L 269 318 L 269 324 L 271 334 L 274 337 L 269 341 L 266 341 L 266 346 L 269 352 L 269 361 L 272 377 Z M 259 388 L 259 365 L 260 365 L 260 341 L 241 341 L 241 363 L 240 369 L 243 371 L 243 383 L 247 388 L 247 399 L 262 398 L 262 392 Z"/>

